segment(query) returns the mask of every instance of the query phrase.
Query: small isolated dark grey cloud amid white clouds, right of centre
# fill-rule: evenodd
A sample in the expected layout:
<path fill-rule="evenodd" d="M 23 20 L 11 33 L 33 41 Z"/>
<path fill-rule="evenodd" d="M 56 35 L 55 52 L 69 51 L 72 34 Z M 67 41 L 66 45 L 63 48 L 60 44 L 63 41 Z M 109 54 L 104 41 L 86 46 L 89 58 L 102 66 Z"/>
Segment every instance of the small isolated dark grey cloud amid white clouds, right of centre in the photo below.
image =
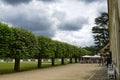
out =
<path fill-rule="evenodd" d="M 87 23 L 88 23 L 88 20 L 86 18 L 66 21 L 59 25 L 59 29 L 65 30 L 65 31 L 77 31 L 77 30 L 80 30 L 83 27 L 83 25 Z"/>

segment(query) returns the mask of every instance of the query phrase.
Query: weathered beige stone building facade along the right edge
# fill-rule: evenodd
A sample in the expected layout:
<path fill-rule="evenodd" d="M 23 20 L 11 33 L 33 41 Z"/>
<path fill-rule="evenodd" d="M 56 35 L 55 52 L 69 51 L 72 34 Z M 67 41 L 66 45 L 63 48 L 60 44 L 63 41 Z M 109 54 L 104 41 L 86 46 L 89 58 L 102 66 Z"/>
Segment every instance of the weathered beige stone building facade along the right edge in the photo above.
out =
<path fill-rule="evenodd" d="M 110 51 L 116 78 L 120 80 L 120 0 L 108 0 Z"/>

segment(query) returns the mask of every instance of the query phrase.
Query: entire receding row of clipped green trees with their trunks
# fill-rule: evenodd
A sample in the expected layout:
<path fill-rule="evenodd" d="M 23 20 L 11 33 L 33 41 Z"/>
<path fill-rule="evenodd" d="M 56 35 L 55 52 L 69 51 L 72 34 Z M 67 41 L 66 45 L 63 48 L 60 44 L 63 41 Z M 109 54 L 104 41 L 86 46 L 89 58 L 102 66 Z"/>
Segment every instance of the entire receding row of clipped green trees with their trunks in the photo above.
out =
<path fill-rule="evenodd" d="M 35 36 L 25 29 L 0 23 L 0 58 L 15 59 L 14 71 L 20 70 L 20 59 L 38 59 L 38 68 L 40 68 L 42 58 L 51 58 L 54 66 L 55 58 L 61 58 L 61 64 L 64 64 L 64 58 L 70 58 L 72 63 L 72 58 L 77 62 L 77 59 L 85 54 L 90 52 L 45 36 Z"/>

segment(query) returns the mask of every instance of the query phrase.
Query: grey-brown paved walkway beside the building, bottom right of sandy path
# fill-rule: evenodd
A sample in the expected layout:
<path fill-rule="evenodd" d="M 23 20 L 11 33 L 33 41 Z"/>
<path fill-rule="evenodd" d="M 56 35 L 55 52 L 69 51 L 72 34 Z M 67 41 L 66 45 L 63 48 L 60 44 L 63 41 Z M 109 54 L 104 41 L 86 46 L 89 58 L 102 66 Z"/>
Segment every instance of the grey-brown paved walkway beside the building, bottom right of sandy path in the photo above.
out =
<path fill-rule="evenodd" d="M 89 80 L 108 80 L 107 68 L 101 67 L 100 70 L 97 70 L 96 73 L 93 76 L 91 76 Z"/>

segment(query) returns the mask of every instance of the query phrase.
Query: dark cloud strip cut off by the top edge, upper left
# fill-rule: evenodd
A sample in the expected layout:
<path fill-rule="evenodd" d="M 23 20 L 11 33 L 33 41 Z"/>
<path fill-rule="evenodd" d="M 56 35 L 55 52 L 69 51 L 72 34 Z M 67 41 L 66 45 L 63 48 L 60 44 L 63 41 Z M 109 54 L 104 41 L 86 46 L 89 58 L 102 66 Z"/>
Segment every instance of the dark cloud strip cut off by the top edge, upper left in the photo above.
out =
<path fill-rule="evenodd" d="M 2 0 L 3 3 L 9 4 L 9 5 L 18 5 L 18 4 L 27 4 L 32 0 Z"/>

